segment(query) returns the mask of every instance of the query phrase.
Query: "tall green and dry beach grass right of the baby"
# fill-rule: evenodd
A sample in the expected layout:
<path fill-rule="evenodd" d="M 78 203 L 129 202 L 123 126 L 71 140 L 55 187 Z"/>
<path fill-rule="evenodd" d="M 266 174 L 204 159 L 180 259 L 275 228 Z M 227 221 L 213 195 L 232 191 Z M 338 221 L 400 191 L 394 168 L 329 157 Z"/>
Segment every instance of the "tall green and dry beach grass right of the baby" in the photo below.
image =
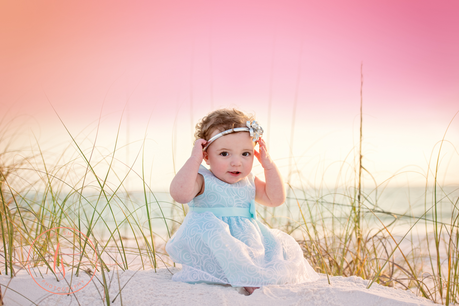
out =
<path fill-rule="evenodd" d="M 436 153 L 432 151 L 426 174 L 420 173 L 426 182 L 422 195 L 424 209 L 413 212 L 414 207 L 407 201 L 408 212 L 401 214 L 385 210 L 381 196 L 387 192 L 390 181 L 404 173 L 364 188 L 364 173 L 374 178 L 362 165 L 361 143 L 362 117 L 356 154 L 348 154 L 355 156 L 357 167 L 353 168 L 353 162 L 347 161 L 341 167 L 341 172 L 355 173 L 355 177 L 348 177 L 348 184 L 331 191 L 315 190 L 306 187 L 303 183 L 306 178 L 297 171 L 297 184 L 289 186 L 292 196 L 287 206 L 289 211 L 297 206 L 299 213 L 286 216 L 289 222 L 271 215 L 265 218 L 265 223 L 301 236 L 299 243 L 305 257 L 320 272 L 357 275 L 370 280 L 367 288 L 378 283 L 411 290 L 436 303 L 457 304 L 459 186 L 439 183 L 440 173 L 449 170 L 440 169 L 445 167 L 441 165 L 446 154 L 443 147 L 451 144 L 444 136 Z M 454 156 L 457 150 L 450 149 Z M 406 229 L 401 233 L 398 228 Z"/>

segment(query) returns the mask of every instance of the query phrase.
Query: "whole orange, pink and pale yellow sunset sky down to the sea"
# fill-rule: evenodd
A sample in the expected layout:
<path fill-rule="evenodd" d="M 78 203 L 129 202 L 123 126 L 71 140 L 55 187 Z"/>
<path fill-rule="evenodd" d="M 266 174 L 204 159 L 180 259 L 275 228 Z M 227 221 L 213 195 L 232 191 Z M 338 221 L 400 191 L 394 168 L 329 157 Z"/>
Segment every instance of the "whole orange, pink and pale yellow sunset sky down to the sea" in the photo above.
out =
<path fill-rule="evenodd" d="M 118 174 L 140 173 L 143 154 L 151 189 L 168 191 L 196 122 L 237 107 L 292 184 L 334 187 L 358 161 L 362 72 L 364 167 L 376 184 L 424 186 L 459 110 L 458 12 L 450 0 L 1 1 L 1 124 L 12 147 L 39 143 L 56 163 L 95 145 Z M 445 139 L 441 179 L 457 183 L 459 117 Z M 392 178 L 402 171 L 414 172 Z"/>

